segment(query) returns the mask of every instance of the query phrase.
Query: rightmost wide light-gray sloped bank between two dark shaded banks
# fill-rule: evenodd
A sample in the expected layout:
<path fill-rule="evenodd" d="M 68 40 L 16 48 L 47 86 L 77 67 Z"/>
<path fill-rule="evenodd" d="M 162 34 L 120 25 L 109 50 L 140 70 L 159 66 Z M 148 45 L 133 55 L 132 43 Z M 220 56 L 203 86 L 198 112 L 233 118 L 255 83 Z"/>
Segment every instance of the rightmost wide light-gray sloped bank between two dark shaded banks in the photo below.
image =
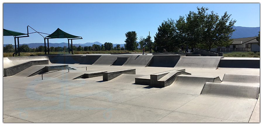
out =
<path fill-rule="evenodd" d="M 212 57 L 212 56 L 185 56 L 181 57 L 177 64 L 176 68 L 208 68 L 208 69 L 217 69 L 220 60 L 224 57 Z"/>

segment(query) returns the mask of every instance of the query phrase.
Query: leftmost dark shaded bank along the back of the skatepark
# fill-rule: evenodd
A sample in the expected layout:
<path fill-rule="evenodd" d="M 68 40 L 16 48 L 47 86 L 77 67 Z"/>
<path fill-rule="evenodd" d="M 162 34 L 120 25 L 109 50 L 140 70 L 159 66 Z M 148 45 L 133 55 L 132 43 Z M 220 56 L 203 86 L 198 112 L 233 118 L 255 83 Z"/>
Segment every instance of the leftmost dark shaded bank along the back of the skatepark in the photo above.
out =
<path fill-rule="evenodd" d="M 80 63 L 80 58 L 82 55 L 49 55 L 49 60 L 51 63 L 60 64 L 75 64 Z"/>

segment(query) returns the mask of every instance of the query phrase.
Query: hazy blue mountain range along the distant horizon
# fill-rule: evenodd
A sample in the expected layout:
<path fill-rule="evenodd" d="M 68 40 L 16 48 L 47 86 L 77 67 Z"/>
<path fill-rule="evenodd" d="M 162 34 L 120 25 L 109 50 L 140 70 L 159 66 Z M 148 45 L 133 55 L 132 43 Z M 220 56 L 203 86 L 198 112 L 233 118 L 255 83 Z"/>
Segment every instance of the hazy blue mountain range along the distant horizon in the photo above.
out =
<path fill-rule="evenodd" d="M 232 34 L 232 38 L 235 39 L 235 38 L 244 38 L 244 37 L 253 37 L 253 36 L 258 36 L 258 32 L 260 31 L 260 27 L 236 27 L 236 26 L 233 26 L 234 29 L 236 29 L 236 31 L 233 32 Z M 138 41 L 137 41 L 138 42 Z M 87 43 L 84 43 L 84 44 L 73 44 L 74 46 L 76 47 L 79 47 L 79 46 L 92 46 L 93 44 L 97 44 L 97 45 L 102 45 L 102 43 L 96 41 L 96 42 L 87 42 Z M 103 43 L 104 44 L 104 43 Z M 3 46 L 6 46 L 8 44 L 3 44 Z M 20 45 L 23 45 L 23 44 L 20 44 Z M 38 46 L 44 46 L 44 43 L 29 43 L 27 44 L 29 48 L 37 48 Z M 113 44 L 113 47 L 115 47 L 117 44 Z M 14 45 L 13 45 L 14 46 Z M 46 43 L 46 46 L 47 46 L 47 43 Z M 49 47 L 68 47 L 68 43 L 65 43 L 65 42 L 62 42 L 62 43 L 49 43 Z M 15 47 L 15 46 L 14 46 Z M 124 44 L 120 44 L 120 47 L 124 47 Z M 138 46 L 139 48 L 140 46 Z"/>

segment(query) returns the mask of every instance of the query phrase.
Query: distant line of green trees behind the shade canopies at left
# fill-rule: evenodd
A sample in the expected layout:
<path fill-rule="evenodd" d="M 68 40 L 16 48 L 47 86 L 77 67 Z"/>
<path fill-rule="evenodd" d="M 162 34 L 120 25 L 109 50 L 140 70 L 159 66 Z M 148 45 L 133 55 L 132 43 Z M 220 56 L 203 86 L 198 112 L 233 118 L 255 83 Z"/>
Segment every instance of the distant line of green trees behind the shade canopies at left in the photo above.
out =
<path fill-rule="evenodd" d="M 17 52 L 18 52 L 18 47 L 17 47 Z M 19 46 L 20 52 L 45 52 L 45 47 L 44 46 L 38 46 L 37 48 L 29 48 L 28 45 L 23 44 Z M 120 44 L 117 44 L 117 46 L 113 47 L 112 43 L 105 42 L 104 45 L 97 45 L 93 44 L 92 46 L 73 46 L 73 51 L 110 51 L 110 50 L 124 50 L 123 47 L 120 47 Z M 46 46 L 46 51 L 48 51 L 48 48 Z M 68 52 L 68 47 L 49 47 L 50 52 Z M 70 45 L 70 51 L 71 51 L 71 45 Z M 15 52 L 15 48 L 13 47 L 12 44 L 8 44 L 5 47 L 3 47 L 3 52 L 4 53 L 11 53 Z"/>

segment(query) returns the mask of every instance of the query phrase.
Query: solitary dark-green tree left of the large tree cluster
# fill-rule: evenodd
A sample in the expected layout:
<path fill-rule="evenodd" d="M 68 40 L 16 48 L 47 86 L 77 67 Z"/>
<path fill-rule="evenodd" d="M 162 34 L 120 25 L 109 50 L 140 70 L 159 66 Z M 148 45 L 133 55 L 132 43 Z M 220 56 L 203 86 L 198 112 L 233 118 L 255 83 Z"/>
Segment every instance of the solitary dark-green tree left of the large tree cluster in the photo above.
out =
<path fill-rule="evenodd" d="M 134 51 L 137 49 L 137 47 L 139 46 L 139 43 L 136 42 L 137 38 L 137 33 L 135 31 L 129 31 L 127 33 L 125 33 L 126 39 L 125 39 L 125 43 L 124 47 L 126 48 L 126 50 L 128 51 Z"/>

